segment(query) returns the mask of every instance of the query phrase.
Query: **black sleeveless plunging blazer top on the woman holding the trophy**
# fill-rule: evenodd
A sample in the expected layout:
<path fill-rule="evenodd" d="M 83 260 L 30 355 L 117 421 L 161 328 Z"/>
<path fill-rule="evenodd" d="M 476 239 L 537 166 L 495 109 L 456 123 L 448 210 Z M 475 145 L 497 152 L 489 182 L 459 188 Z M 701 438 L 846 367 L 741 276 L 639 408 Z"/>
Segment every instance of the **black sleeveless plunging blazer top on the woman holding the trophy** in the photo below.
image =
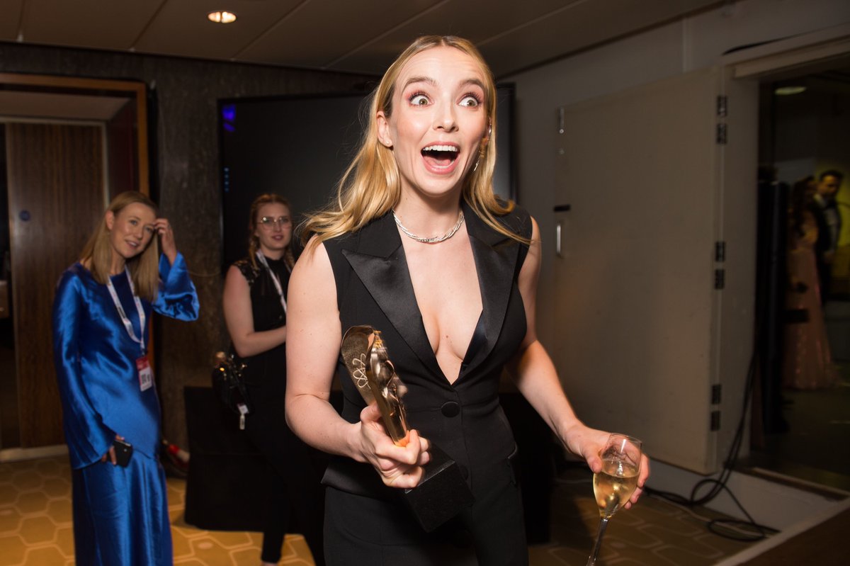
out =
<path fill-rule="evenodd" d="M 499 405 L 498 386 L 504 365 L 525 337 L 525 311 L 517 280 L 528 246 L 491 229 L 466 204 L 463 213 L 483 309 L 454 383 L 443 375 L 428 342 L 392 215 L 324 245 L 337 285 L 343 334 L 354 325 L 371 325 L 381 331 L 389 358 L 408 389 L 403 401 L 409 425 L 465 468 L 472 484 L 478 471 L 506 460 L 515 449 L 513 433 Z M 500 220 L 508 229 L 530 238 L 530 216 L 524 209 L 516 207 Z M 365 403 L 342 359 L 337 376 L 343 389 L 342 416 L 357 422 Z M 342 456 L 331 461 L 324 483 L 382 499 L 394 494 L 370 465 Z"/>

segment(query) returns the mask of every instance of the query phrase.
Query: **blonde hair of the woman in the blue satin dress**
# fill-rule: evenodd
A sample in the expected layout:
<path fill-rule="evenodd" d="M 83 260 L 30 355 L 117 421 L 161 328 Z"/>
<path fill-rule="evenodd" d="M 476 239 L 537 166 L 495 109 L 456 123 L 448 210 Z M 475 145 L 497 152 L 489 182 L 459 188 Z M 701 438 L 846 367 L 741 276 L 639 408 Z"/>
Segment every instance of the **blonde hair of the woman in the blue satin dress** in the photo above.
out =
<path fill-rule="evenodd" d="M 88 265 L 94 280 L 102 285 L 106 285 L 109 279 L 112 264 L 110 229 L 106 226 L 107 212 L 112 212 L 117 218 L 125 207 L 135 202 L 149 207 L 154 215 L 159 217 L 159 209 L 147 196 L 135 190 L 118 193 L 106 208 L 94 234 L 88 238 L 86 246 L 82 248 L 80 258 L 82 263 Z M 127 260 L 127 269 L 130 270 L 136 294 L 151 302 L 156 300 L 156 291 L 159 290 L 159 244 L 156 241 L 156 234 L 151 236 L 150 243 L 139 255 Z"/>

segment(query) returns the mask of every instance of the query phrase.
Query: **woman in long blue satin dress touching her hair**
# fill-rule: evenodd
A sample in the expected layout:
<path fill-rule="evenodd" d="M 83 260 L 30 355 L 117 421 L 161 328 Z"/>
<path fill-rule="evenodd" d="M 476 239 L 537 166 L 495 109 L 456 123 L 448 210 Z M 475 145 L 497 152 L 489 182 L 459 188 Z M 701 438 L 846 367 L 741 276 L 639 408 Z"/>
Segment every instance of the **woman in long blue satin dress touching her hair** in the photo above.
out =
<path fill-rule="evenodd" d="M 151 311 L 195 320 L 198 298 L 171 225 L 157 217 L 145 195 L 117 195 L 56 290 L 77 564 L 173 563 L 147 321 Z M 122 443 L 132 445 L 128 461 Z"/>

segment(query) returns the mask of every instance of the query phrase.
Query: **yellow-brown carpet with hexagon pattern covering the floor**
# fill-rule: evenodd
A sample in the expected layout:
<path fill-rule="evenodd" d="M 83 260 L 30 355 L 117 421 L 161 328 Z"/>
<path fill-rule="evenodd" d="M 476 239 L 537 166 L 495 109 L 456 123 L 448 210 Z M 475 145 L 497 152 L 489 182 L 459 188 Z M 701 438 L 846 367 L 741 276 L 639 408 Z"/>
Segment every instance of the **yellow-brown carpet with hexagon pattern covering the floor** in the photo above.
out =
<path fill-rule="evenodd" d="M 168 479 L 174 563 L 193 566 L 259 563 L 258 533 L 213 532 L 183 521 L 185 482 Z M 663 500 L 644 497 L 611 520 L 599 566 L 711 565 L 750 546 L 711 533 L 708 518 Z M 591 476 L 580 467 L 559 475 L 552 496 L 552 541 L 531 546 L 532 566 L 583 566 L 592 546 L 598 511 Z M 0 566 L 74 563 L 71 473 L 66 456 L 0 463 Z M 301 535 L 287 535 L 281 564 L 312 564 Z"/>

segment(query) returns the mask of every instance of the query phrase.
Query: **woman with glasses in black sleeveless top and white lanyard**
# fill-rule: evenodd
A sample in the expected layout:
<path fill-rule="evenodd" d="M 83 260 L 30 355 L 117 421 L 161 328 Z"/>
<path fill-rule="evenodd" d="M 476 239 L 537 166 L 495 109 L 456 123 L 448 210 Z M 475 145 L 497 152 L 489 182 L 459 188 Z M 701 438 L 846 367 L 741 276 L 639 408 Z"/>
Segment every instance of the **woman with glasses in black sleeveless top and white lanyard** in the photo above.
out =
<path fill-rule="evenodd" d="M 292 254 L 292 211 L 279 195 L 259 195 L 248 219 L 248 255 L 224 281 L 224 320 L 233 350 L 246 364 L 250 412 L 245 430 L 269 463 L 268 505 L 262 512 L 263 564 L 280 561 L 290 518 L 316 564 L 324 564 L 324 491 L 320 453 L 286 426 L 286 286 Z"/>

